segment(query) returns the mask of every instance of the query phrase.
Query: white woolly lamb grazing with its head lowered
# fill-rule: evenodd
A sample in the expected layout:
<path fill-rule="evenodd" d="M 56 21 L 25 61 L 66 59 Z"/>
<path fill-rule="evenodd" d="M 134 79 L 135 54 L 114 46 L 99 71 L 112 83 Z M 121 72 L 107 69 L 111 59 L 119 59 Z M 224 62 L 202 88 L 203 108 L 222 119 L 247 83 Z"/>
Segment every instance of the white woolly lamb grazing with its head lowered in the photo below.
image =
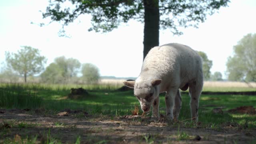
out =
<path fill-rule="evenodd" d="M 135 81 L 124 84 L 134 88 L 134 95 L 144 112 L 153 106 L 152 116 L 159 118 L 159 93 L 166 92 L 166 117 L 177 118 L 181 108 L 181 90 L 189 87 L 191 118 L 198 120 L 198 102 L 203 87 L 202 61 L 198 53 L 183 44 L 171 43 L 152 48 Z"/>

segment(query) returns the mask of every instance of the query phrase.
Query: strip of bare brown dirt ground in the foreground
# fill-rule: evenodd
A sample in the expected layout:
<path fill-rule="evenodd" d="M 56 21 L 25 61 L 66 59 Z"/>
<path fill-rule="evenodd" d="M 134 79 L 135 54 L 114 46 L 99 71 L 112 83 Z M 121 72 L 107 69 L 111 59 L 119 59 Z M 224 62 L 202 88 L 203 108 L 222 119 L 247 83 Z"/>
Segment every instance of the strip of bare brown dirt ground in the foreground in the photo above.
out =
<path fill-rule="evenodd" d="M 193 126 L 192 126 L 193 127 Z M 91 143 L 197 143 L 248 144 L 256 143 L 255 129 L 226 126 L 221 129 L 186 128 L 172 125 L 164 119 L 140 116 L 92 116 L 83 111 L 64 110 L 62 113 L 45 110 L 0 109 L 0 143 L 4 140 L 34 138 L 37 143 L 58 140 L 81 144 Z"/>

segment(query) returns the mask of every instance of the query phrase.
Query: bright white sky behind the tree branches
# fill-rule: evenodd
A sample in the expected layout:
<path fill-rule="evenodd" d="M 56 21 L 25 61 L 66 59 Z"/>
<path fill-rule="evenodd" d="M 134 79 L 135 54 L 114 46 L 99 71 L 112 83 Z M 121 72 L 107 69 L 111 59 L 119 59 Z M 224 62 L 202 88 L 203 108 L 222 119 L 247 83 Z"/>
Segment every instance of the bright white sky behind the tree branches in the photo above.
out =
<path fill-rule="evenodd" d="M 66 56 L 81 63 L 98 66 L 102 76 L 137 77 L 143 59 L 143 24 L 130 20 L 108 33 L 88 32 L 90 16 L 66 27 L 71 38 L 58 37 L 61 25 L 53 22 L 40 27 L 31 22 L 46 22 L 39 10 L 45 11 L 48 0 L 0 0 L 0 62 L 5 51 L 17 52 L 20 46 L 38 48 L 48 58 Z M 203 51 L 213 61 L 211 72 L 226 78 L 226 61 L 233 46 L 248 33 L 256 33 L 256 0 L 231 0 L 229 7 L 208 16 L 199 28 L 183 29 L 181 36 L 160 30 L 160 45 L 170 42 L 186 44 Z"/>

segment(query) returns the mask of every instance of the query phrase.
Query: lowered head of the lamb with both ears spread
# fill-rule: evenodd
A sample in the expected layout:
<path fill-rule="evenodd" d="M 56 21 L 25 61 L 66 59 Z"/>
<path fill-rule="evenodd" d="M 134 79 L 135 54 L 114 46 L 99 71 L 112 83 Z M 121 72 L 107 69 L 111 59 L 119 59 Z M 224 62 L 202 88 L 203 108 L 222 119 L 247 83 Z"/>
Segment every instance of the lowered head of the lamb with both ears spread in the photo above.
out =
<path fill-rule="evenodd" d="M 161 84 L 162 80 L 152 80 L 151 82 L 144 82 L 142 80 L 136 81 L 126 81 L 125 86 L 129 88 L 134 88 L 134 96 L 136 96 L 140 102 L 140 107 L 144 112 L 150 110 L 150 106 L 154 100 L 158 97 L 159 88 L 158 85 Z"/>

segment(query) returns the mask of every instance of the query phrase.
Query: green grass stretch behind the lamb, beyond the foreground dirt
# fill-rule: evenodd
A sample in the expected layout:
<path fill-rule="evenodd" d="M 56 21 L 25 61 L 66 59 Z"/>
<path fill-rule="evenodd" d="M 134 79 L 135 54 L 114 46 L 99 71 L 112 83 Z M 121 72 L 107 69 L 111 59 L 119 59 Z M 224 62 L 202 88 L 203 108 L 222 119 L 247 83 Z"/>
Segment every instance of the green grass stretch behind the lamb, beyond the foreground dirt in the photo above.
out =
<path fill-rule="evenodd" d="M 77 100 L 68 99 L 70 88 L 78 87 L 87 89 L 90 95 Z M 72 110 L 82 109 L 89 114 L 102 114 L 110 117 L 131 115 L 134 106 L 139 105 L 139 102 L 132 91 L 119 92 L 116 91 L 118 88 L 117 85 L 0 84 L 0 108 L 44 108 L 56 112 L 69 108 Z M 186 126 L 193 126 L 190 120 L 186 120 L 190 119 L 189 102 L 188 94 L 182 93 L 179 120 L 185 120 L 183 122 Z M 220 106 L 224 107 L 224 113 L 214 114 L 212 109 Z M 255 115 L 226 112 L 226 110 L 239 106 L 254 106 L 255 108 L 256 96 L 202 94 L 198 120 L 207 128 L 218 129 L 228 123 L 256 128 Z M 164 94 L 160 94 L 160 113 L 165 114 Z M 142 114 L 141 110 L 140 114 Z"/>

